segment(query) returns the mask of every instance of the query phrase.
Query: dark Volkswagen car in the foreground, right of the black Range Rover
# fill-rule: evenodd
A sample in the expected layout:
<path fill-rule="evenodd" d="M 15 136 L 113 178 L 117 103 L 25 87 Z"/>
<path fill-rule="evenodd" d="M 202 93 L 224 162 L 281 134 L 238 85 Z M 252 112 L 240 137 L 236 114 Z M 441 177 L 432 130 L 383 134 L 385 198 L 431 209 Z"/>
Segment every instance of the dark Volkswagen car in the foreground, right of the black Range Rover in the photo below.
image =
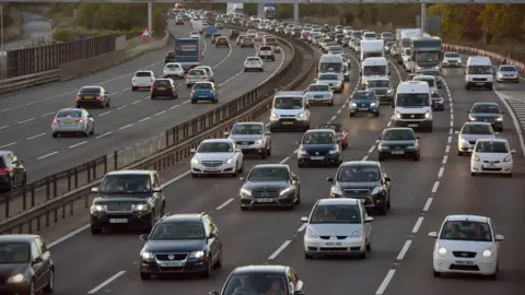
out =
<path fill-rule="evenodd" d="M 210 278 L 222 267 L 222 240 L 207 213 L 166 214 L 153 227 L 140 251 L 140 279 L 154 274 L 200 273 Z"/>

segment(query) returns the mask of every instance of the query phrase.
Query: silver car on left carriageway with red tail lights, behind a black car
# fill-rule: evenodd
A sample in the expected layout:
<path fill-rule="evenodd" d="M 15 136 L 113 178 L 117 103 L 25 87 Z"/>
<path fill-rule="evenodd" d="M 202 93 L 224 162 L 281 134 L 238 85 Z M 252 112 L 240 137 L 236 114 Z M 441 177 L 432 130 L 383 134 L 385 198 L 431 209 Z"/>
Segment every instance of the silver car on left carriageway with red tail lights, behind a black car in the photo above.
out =
<path fill-rule="evenodd" d="M 95 120 L 83 108 L 62 108 L 51 123 L 54 138 L 61 134 L 81 134 L 84 137 L 95 133 Z"/>

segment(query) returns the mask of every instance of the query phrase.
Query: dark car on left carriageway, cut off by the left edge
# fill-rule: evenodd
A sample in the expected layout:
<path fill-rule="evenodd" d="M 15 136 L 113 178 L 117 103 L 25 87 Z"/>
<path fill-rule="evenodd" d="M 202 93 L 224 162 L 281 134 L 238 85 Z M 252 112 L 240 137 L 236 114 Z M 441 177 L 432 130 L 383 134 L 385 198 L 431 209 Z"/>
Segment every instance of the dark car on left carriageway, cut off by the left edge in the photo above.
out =
<path fill-rule="evenodd" d="M 26 181 L 24 162 L 11 151 L 0 151 L 0 193 L 25 186 Z"/>

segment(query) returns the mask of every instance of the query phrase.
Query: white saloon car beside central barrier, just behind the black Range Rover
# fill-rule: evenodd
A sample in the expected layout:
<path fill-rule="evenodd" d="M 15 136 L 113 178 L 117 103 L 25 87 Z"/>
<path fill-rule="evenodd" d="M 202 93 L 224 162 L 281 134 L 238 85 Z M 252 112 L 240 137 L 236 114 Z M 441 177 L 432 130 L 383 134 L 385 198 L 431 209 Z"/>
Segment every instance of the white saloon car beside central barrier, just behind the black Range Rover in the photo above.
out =
<path fill-rule="evenodd" d="M 191 176 L 225 174 L 236 177 L 243 172 L 243 152 L 231 139 L 203 140 L 197 150 L 192 149 Z"/>

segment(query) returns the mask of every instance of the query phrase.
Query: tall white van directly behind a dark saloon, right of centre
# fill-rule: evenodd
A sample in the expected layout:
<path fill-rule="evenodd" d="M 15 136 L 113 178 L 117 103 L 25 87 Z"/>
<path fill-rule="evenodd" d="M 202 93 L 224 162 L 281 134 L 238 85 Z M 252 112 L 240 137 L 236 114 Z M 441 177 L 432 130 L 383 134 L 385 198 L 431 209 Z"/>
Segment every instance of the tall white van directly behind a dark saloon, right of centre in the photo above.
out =
<path fill-rule="evenodd" d="M 394 126 L 421 128 L 432 132 L 432 101 L 427 82 L 407 81 L 397 86 Z"/>

